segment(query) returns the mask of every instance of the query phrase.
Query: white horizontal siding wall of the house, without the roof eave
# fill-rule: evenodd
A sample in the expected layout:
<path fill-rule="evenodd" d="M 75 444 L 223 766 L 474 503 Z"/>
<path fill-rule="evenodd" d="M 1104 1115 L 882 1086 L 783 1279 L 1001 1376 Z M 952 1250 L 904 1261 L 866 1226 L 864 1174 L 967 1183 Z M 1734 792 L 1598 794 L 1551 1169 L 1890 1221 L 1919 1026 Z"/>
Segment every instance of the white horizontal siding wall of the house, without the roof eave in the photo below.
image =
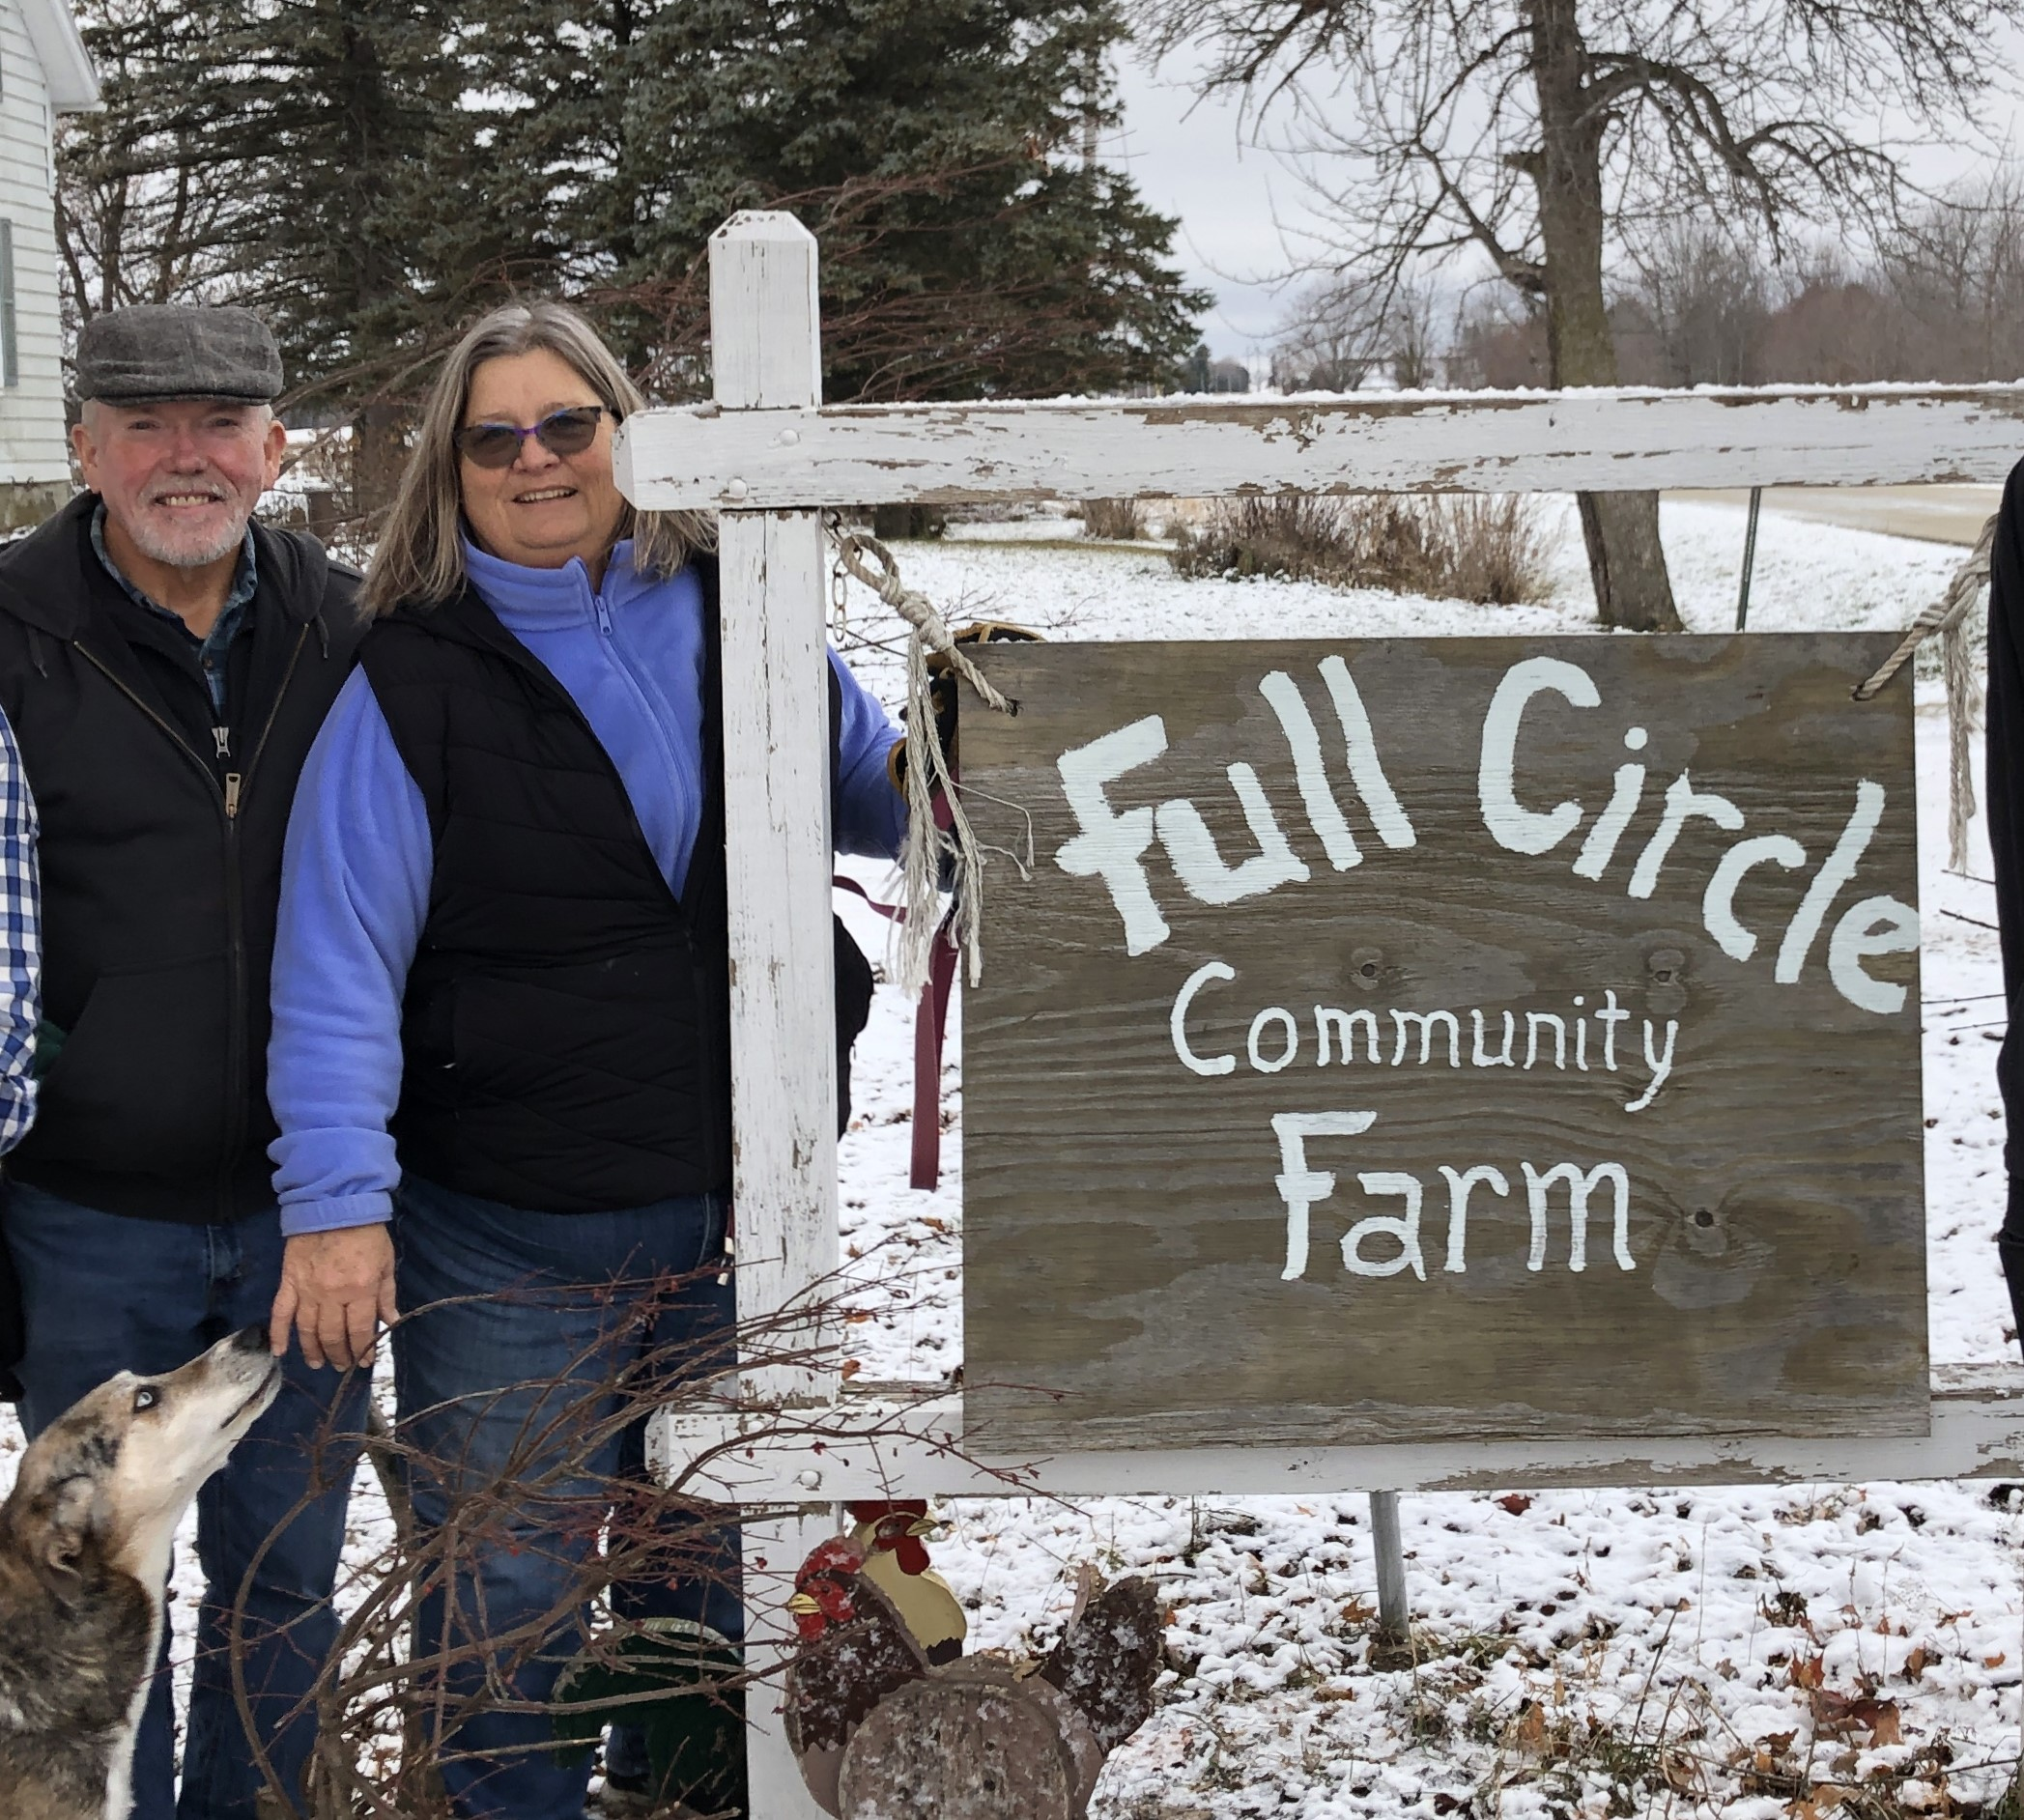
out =
<path fill-rule="evenodd" d="M 0 219 L 14 239 L 18 383 L 0 387 L 0 484 L 69 486 L 49 85 L 20 0 L 0 0 Z"/>

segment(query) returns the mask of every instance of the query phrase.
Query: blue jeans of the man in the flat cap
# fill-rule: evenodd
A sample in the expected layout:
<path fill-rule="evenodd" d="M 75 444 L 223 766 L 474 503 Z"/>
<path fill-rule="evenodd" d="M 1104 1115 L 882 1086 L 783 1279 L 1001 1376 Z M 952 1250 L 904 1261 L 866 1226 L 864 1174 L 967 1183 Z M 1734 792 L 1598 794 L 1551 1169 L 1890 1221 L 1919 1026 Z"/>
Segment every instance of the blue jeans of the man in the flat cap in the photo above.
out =
<path fill-rule="evenodd" d="M 28 1320 L 18 1377 L 30 1439 L 117 1371 L 172 1371 L 225 1334 L 265 1326 L 281 1281 L 275 1209 L 192 1227 L 97 1213 L 12 1182 L 0 1231 L 20 1271 Z M 330 1593 L 364 1399 L 362 1373 L 312 1371 L 291 1350 L 281 1395 L 196 1494 L 204 1603 L 182 1800 L 164 1632 L 164 1668 L 134 1751 L 134 1820 L 255 1820 L 267 1780 L 233 1699 L 231 1644 L 241 1579 L 269 1537 L 239 1618 L 239 1658 L 261 1747 L 281 1784 L 300 1792 L 316 1735 L 314 1717 L 300 1707 L 338 1634 Z"/>

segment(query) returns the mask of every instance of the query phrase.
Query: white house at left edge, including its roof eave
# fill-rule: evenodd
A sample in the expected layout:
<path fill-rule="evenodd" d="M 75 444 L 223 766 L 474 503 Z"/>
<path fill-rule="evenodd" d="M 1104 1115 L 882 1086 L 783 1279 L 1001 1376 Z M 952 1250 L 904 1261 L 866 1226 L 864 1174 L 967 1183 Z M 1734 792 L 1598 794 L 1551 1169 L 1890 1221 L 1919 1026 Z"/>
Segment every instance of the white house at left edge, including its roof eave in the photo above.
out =
<path fill-rule="evenodd" d="M 0 0 L 0 530 L 71 496 L 57 308 L 57 115 L 99 107 L 65 0 Z"/>

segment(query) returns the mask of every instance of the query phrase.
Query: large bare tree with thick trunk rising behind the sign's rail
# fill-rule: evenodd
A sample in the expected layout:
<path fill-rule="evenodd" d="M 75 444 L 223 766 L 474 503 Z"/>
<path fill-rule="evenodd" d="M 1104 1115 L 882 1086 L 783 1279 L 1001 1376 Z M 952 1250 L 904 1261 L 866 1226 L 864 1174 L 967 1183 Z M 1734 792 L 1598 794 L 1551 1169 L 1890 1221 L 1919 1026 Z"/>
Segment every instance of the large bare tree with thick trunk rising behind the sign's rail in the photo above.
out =
<path fill-rule="evenodd" d="M 1888 211 L 1886 109 L 1959 136 L 2018 0 L 1140 0 L 1160 51 L 1200 38 L 1204 85 L 1291 113 L 1364 283 L 1473 253 L 1544 316 L 1552 385 L 1617 383 L 1603 283 L 1627 227 L 1688 211 Z M 1346 172 L 1330 176 L 1328 172 Z M 1583 494 L 1605 626 L 1680 624 L 1654 494 Z"/>

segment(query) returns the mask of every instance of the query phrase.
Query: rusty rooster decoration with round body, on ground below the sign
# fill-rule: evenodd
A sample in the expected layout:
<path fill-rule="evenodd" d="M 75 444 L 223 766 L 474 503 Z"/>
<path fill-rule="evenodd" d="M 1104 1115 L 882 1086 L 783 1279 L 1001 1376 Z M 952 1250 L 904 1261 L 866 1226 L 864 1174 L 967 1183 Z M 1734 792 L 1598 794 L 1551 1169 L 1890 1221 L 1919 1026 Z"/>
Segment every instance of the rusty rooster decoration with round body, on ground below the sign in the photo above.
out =
<path fill-rule="evenodd" d="M 1152 1715 L 1154 1587 L 1121 1579 L 1091 1597 L 1085 1575 L 1042 1662 L 951 1654 L 947 1638 L 933 1660 L 887 1591 L 899 1577 L 941 1585 L 919 1541 L 925 1514 L 852 1506 L 856 1533 L 822 1543 L 795 1575 L 785 1719 L 810 1794 L 838 1820 L 1081 1820 L 1103 1759 Z"/>

